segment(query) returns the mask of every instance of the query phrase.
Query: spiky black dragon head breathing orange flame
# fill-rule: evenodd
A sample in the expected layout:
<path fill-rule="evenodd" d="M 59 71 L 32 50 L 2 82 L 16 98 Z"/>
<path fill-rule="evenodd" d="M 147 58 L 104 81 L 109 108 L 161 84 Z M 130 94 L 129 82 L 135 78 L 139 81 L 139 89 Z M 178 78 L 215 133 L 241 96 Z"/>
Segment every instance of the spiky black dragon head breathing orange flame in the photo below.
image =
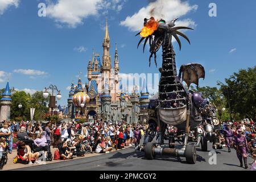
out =
<path fill-rule="evenodd" d="M 149 40 L 150 53 L 151 53 L 150 60 L 153 54 L 155 55 L 155 58 L 156 58 L 156 52 L 159 51 L 161 46 L 163 45 L 168 47 L 171 46 L 172 36 L 174 36 L 174 38 L 177 40 L 177 43 L 179 44 L 180 49 L 181 49 L 181 42 L 177 35 L 182 36 L 190 44 L 190 41 L 187 38 L 187 36 L 177 30 L 180 30 L 180 29 L 193 30 L 193 29 L 189 27 L 175 27 L 176 20 L 177 19 L 173 19 L 171 20 L 171 22 L 166 22 L 166 20 L 163 20 L 163 19 L 155 20 L 154 17 L 151 17 L 150 19 L 144 18 L 144 27 L 142 28 L 142 31 L 137 34 L 137 35 L 141 35 L 142 37 L 141 40 L 139 40 L 138 47 L 139 47 L 139 44 L 141 44 L 142 41 L 145 39 L 144 46 L 143 46 L 143 52 L 144 52 L 147 41 Z M 156 59 L 155 59 L 155 64 L 156 64 Z"/>

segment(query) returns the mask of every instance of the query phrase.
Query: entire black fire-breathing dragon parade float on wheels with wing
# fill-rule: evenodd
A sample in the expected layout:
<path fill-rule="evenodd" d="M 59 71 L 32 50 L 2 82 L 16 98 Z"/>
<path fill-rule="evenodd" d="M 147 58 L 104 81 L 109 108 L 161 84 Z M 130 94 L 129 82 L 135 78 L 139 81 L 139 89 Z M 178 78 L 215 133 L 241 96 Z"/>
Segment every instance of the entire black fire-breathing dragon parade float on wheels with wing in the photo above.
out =
<path fill-rule="evenodd" d="M 164 19 L 155 20 L 153 17 L 144 19 L 144 27 L 137 35 L 141 35 L 139 45 L 144 40 L 143 52 L 147 42 L 150 45 L 150 58 L 154 55 L 155 65 L 156 52 L 162 47 L 162 67 L 159 68 L 161 73 L 159 81 L 159 93 L 156 100 L 150 100 L 148 105 L 148 128 L 144 136 L 143 146 L 138 146 L 135 150 L 144 151 L 147 159 L 154 159 L 156 155 L 173 155 L 184 156 L 187 163 L 196 163 L 196 146 L 194 143 L 189 143 L 189 131 L 196 129 L 203 122 L 202 108 L 204 98 L 200 97 L 199 93 L 191 92 L 189 86 L 191 84 L 199 85 L 199 79 L 205 77 L 205 70 L 201 64 L 191 63 L 181 65 L 179 75 L 177 75 L 175 51 L 172 46 L 172 37 L 174 37 L 181 49 L 179 36 L 190 41 L 188 37 L 179 30 L 193 30 L 189 27 L 175 27 L 175 21 L 166 22 Z M 136 35 L 136 36 L 137 36 Z M 179 36 L 178 36 L 179 35 Z M 138 48 L 137 47 L 137 48 Z M 183 85 L 183 81 L 187 87 Z M 211 123 L 208 124 L 209 131 L 205 136 L 214 136 Z M 174 135 L 165 135 L 167 126 L 175 126 L 180 133 L 183 133 L 181 148 L 175 148 Z M 156 129 L 158 127 L 158 131 Z M 156 143 L 152 140 L 157 135 Z M 162 147 L 164 139 L 168 138 L 169 147 Z M 209 138 L 208 138 L 209 139 Z M 204 140 L 205 149 L 205 138 Z M 207 142 L 207 141 L 206 141 Z M 206 143 L 207 144 L 207 143 Z"/>

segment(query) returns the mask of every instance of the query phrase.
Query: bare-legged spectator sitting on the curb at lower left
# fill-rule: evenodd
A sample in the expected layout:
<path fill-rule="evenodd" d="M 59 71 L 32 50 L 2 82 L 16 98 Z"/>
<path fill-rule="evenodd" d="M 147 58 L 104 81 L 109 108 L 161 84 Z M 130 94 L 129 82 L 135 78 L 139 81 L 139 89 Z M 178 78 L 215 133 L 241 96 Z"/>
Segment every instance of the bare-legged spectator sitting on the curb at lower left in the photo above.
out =
<path fill-rule="evenodd" d="M 23 160 L 28 159 L 28 164 L 32 165 L 33 163 L 31 162 L 32 158 L 35 158 L 35 163 L 40 164 L 41 162 L 38 160 L 39 158 L 39 152 L 31 152 L 30 146 L 26 145 L 23 141 L 19 142 L 19 155 L 22 156 Z"/>

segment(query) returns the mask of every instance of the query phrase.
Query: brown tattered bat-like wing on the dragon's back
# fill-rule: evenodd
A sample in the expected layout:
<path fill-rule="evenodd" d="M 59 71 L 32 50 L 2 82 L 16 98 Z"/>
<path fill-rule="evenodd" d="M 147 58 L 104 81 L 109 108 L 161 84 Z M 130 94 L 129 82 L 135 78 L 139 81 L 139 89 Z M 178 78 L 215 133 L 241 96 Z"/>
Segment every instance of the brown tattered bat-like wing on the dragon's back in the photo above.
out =
<path fill-rule="evenodd" d="M 185 64 L 181 65 L 180 71 L 179 71 L 179 79 L 181 78 L 185 81 L 185 83 L 188 85 L 188 87 L 191 84 L 199 85 L 199 79 L 205 77 L 205 71 L 204 67 L 201 64 L 197 63 L 191 63 L 191 64 Z"/>

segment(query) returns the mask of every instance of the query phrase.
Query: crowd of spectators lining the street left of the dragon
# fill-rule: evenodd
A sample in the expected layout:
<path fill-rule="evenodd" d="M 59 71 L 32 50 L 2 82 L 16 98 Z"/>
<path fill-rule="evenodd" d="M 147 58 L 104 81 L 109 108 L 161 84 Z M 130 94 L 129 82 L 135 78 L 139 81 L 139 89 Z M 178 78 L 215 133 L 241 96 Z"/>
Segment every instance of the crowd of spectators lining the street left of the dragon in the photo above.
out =
<path fill-rule="evenodd" d="M 32 165 L 40 164 L 39 159 L 42 154 L 52 155 L 52 158 L 54 155 L 54 159 L 66 160 L 94 152 L 109 153 L 133 144 L 137 145 L 144 135 L 144 129 L 142 125 L 125 121 L 119 123 L 96 121 L 88 124 L 1 122 L 0 155 L 3 151 L 11 154 L 15 148 L 19 161 L 26 161 L 26 164 Z M 56 148 L 54 154 L 51 154 L 51 147 Z"/>

